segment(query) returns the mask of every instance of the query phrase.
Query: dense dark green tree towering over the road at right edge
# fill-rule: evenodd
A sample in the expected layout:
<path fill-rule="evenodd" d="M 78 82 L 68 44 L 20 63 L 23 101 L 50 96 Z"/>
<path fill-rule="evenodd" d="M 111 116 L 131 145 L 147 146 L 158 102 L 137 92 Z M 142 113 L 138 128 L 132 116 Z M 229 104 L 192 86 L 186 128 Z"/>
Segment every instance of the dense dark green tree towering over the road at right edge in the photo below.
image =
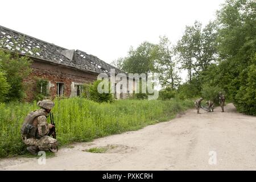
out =
<path fill-rule="evenodd" d="M 243 113 L 253 114 L 255 98 L 253 66 L 256 64 L 256 3 L 253 0 L 228 0 L 217 14 L 218 52 L 221 82 L 234 105 Z M 255 81 L 255 80 L 254 80 Z M 248 101 L 248 102 L 247 102 Z M 250 102 L 250 104 L 249 104 Z M 249 105 L 248 105 L 249 104 Z"/>

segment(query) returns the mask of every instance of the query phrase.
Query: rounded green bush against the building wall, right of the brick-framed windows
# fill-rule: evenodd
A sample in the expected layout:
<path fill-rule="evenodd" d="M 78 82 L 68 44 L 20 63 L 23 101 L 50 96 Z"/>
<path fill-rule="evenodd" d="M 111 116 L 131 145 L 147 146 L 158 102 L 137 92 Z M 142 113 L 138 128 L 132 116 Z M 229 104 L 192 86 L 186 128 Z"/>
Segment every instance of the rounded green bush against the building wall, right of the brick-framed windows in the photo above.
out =
<path fill-rule="evenodd" d="M 98 92 L 98 85 L 101 82 L 102 82 L 101 80 L 96 80 L 93 82 L 93 84 L 85 84 L 83 87 L 82 96 L 95 102 L 112 102 L 113 95 L 112 93 L 110 93 L 110 83 L 109 83 L 109 93 Z M 104 86 L 102 86 L 102 89 L 104 89 Z"/>

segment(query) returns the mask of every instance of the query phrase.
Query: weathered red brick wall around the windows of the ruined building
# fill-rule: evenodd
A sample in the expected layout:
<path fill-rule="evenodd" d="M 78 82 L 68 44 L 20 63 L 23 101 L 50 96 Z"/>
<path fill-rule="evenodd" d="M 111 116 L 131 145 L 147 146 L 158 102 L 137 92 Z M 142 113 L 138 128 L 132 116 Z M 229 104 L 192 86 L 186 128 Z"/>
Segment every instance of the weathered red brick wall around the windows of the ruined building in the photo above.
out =
<path fill-rule="evenodd" d="M 57 82 L 64 83 L 64 96 L 69 97 L 71 94 L 72 82 L 86 83 L 93 82 L 97 79 L 97 75 L 93 75 L 92 73 L 86 73 L 77 69 L 53 65 L 36 60 L 32 63 L 31 68 L 31 75 L 24 79 L 24 82 L 27 85 L 27 101 L 32 101 L 37 94 L 36 78 L 42 78 L 43 80 L 50 81 L 51 84 L 54 84 L 54 86 L 49 90 L 49 94 L 52 99 L 56 97 L 57 94 Z"/>

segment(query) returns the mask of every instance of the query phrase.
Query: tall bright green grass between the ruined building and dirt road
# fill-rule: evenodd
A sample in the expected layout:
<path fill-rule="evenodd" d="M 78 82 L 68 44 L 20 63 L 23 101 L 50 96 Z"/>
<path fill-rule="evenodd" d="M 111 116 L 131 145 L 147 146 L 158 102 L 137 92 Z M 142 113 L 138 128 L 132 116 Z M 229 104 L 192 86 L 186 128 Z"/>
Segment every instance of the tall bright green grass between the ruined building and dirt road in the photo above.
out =
<path fill-rule="evenodd" d="M 189 100 L 117 100 L 99 104 L 76 97 L 55 100 L 52 111 L 57 139 L 63 146 L 168 121 L 192 106 Z M 27 153 L 20 126 L 26 115 L 36 109 L 35 102 L 0 104 L 0 158 Z"/>

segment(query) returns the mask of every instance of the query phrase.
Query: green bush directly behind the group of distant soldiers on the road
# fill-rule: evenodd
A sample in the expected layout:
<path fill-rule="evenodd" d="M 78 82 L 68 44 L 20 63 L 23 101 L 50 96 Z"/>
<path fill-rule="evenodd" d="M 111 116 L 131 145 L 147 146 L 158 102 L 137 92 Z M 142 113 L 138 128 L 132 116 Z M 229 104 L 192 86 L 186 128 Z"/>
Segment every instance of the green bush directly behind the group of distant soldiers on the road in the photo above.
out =
<path fill-rule="evenodd" d="M 210 101 L 213 101 L 215 105 L 218 105 L 219 92 L 223 93 L 222 89 L 219 88 L 218 86 L 210 86 L 209 84 L 204 84 L 201 90 L 201 97 L 204 98 L 204 101 L 210 100 Z"/>

